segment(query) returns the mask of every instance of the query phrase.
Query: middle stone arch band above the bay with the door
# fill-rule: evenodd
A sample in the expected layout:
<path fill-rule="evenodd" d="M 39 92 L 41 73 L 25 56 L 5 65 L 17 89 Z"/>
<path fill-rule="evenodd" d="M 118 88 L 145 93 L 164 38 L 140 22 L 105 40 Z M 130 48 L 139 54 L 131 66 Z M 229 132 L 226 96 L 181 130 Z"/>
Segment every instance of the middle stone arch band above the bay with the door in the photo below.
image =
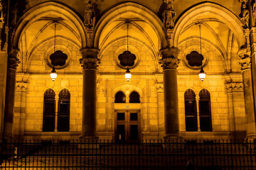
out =
<path fill-rule="evenodd" d="M 146 37 L 145 41 L 157 41 L 156 43 L 153 42 L 156 50 L 166 47 L 167 41 L 164 33 L 165 28 L 161 20 L 154 12 L 149 10 L 149 8 L 133 2 L 126 2 L 124 4 L 114 6 L 102 16 L 95 26 L 94 46 L 100 47 L 100 38 L 102 38 L 102 36 L 110 37 L 110 33 L 112 33 L 113 30 L 117 30 L 117 28 L 122 26 L 122 23 L 120 23 L 122 22 L 122 19 L 129 17 L 133 18 L 132 26 L 134 26 L 134 28 L 136 27 L 137 30 L 140 30 L 142 35 Z M 151 36 L 148 35 L 151 35 L 151 33 L 146 33 L 146 29 L 144 29 L 145 27 L 142 27 L 142 23 L 137 23 L 136 19 L 138 19 L 139 22 L 143 21 L 149 29 L 154 30 L 153 34 L 156 35 L 157 40 L 149 40 Z M 102 33 L 105 33 L 105 35 L 102 35 Z M 126 35 L 126 32 L 123 34 Z M 149 44 L 150 43 L 151 42 L 149 42 Z"/>

